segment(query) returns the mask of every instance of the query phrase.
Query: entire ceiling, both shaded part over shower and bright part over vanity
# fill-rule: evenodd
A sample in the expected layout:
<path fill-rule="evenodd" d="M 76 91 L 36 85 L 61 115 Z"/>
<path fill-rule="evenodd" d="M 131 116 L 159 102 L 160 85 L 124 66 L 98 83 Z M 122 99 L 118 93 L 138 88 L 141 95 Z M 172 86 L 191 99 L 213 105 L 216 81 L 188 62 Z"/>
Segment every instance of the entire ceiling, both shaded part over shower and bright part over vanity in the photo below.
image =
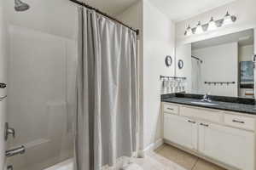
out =
<path fill-rule="evenodd" d="M 110 15 L 122 13 L 139 0 L 81 0 Z M 189 19 L 236 0 L 148 0 L 173 21 Z"/>

